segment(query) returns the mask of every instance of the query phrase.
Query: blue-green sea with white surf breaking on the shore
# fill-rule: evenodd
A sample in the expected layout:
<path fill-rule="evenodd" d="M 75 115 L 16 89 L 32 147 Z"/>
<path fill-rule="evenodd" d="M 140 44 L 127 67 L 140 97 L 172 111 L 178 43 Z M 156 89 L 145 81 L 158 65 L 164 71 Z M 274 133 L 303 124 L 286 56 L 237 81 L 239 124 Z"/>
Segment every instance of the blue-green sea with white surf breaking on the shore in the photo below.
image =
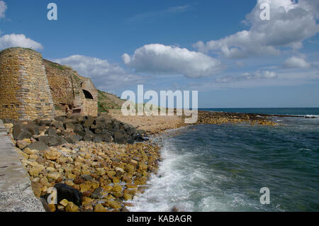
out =
<path fill-rule="evenodd" d="M 319 108 L 201 110 L 312 117 L 170 130 L 155 138 L 162 146 L 159 171 L 130 211 L 319 210 Z"/>

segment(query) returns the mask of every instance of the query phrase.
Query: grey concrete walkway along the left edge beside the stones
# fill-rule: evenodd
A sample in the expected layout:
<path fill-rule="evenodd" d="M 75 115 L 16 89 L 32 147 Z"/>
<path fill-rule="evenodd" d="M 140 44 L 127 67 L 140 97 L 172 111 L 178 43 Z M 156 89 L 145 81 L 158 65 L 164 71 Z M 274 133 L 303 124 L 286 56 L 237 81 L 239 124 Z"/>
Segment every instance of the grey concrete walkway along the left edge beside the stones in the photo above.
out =
<path fill-rule="evenodd" d="M 43 212 L 20 158 L 0 120 L 0 212 Z"/>

